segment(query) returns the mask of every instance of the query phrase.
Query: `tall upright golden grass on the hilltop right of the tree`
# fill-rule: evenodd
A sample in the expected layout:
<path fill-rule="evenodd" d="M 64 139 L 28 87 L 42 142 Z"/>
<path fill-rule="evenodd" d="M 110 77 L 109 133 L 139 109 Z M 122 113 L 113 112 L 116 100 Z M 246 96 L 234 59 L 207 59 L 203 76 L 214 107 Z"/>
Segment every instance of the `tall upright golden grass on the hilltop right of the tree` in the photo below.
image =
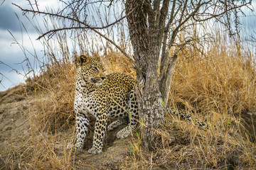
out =
<path fill-rule="evenodd" d="M 220 40 L 204 56 L 197 51 L 180 56 L 172 85 L 174 103 L 182 98 L 203 111 L 221 114 L 255 107 L 255 61 L 229 46 Z"/>

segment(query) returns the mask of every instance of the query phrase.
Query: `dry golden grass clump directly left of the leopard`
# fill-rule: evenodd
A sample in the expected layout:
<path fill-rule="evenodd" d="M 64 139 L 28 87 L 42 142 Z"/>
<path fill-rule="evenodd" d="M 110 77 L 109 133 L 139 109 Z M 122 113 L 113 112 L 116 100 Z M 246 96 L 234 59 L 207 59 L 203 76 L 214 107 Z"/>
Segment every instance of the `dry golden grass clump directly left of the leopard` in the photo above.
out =
<path fill-rule="evenodd" d="M 38 85 L 36 113 L 32 120 L 42 131 L 65 130 L 73 120 L 75 65 L 70 62 L 53 67 Z M 50 78 L 49 78 L 50 77 Z"/>

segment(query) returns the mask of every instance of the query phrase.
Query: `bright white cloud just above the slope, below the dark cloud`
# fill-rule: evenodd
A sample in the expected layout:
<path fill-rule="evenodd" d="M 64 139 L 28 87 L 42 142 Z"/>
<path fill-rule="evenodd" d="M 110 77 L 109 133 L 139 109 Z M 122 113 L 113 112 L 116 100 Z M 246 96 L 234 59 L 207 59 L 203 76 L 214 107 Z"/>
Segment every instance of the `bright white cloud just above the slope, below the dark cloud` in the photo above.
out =
<path fill-rule="evenodd" d="M 36 38 L 38 38 L 37 33 L 29 33 L 29 35 L 23 33 L 22 35 L 19 32 L 13 32 L 12 34 L 24 49 L 29 52 L 35 50 L 38 55 L 43 55 L 41 52 L 41 50 L 43 50 L 43 45 L 41 45 L 40 41 L 36 40 Z M 15 71 L 11 71 L 11 67 L 18 72 L 25 74 L 25 72 L 28 71 L 26 62 L 23 62 L 26 57 L 30 60 L 32 64 L 31 67 L 35 67 L 36 69 L 36 66 L 33 63 L 33 56 L 26 52 L 25 57 L 21 47 L 16 43 L 14 38 L 12 38 L 8 30 L 0 30 L 0 51 L 0 61 L 5 63 L 0 64 L 0 73 L 4 75 L 0 75 L 0 91 L 4 91 L 9 89 L 9 87 L 24 82 L 24 77 L 21 74 L 17 74 Z M 6 64 L 8 66 L 6 66 Z"/>

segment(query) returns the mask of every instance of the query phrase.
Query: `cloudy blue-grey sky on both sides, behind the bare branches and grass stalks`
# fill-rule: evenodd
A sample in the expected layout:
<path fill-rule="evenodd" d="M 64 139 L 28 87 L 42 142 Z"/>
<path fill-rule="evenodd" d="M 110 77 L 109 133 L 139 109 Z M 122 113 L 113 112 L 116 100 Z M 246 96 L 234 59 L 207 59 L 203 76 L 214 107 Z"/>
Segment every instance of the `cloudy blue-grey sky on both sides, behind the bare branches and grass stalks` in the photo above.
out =
<path fill-rule="evenodd" d="M 38 33 L 28 19 L 22 15 L 21 10 L 11 3 L 28 8 L 26 0 L 0 0 L 0 91 L 5 91 L 25 81 L 24 74 L 28 71 L 26 57 L 33 61 L 35 52 L 38 57 L 43 57 L 43 46 L 36 40 Z M 253 3 L 256 8 L 256 2 Z M 38 0 L 38 4 L 40 4 L 39 8 L 44 10 L 46 6 L 58 8 L 59 3 L 58 0 Z M 247 15 L 247 17 L 242 17 L 245 33 L 256 34 L 256 13 L 255 11 L 249 12 Z M 42 21 L 38 22 L 43 24 Z M 26 26 L 28 33 L 21 23 Z"/>

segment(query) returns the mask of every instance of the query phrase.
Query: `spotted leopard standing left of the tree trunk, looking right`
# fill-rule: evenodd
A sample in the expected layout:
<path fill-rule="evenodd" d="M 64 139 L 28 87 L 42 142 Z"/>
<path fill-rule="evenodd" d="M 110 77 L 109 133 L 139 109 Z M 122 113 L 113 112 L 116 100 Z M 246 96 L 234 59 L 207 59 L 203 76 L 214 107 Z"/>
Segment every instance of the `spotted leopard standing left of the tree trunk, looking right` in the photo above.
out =
<path fill-rule="evenodd" d="M 137 128 L 138 102 L 135 93 L 135 79 L 122 73 L 105 74 L 98 57 L 80 55 L 75 75 L 75 148 L 82 150 L 90 118 L 95 118 L 92 148 L 87 152 L 102 152 L 106 130 L 119 125 L 128 125 L 117 132 L 117 138 L 127 137 Z M 115 118 L 107 126 L 108 118 Z"/>

